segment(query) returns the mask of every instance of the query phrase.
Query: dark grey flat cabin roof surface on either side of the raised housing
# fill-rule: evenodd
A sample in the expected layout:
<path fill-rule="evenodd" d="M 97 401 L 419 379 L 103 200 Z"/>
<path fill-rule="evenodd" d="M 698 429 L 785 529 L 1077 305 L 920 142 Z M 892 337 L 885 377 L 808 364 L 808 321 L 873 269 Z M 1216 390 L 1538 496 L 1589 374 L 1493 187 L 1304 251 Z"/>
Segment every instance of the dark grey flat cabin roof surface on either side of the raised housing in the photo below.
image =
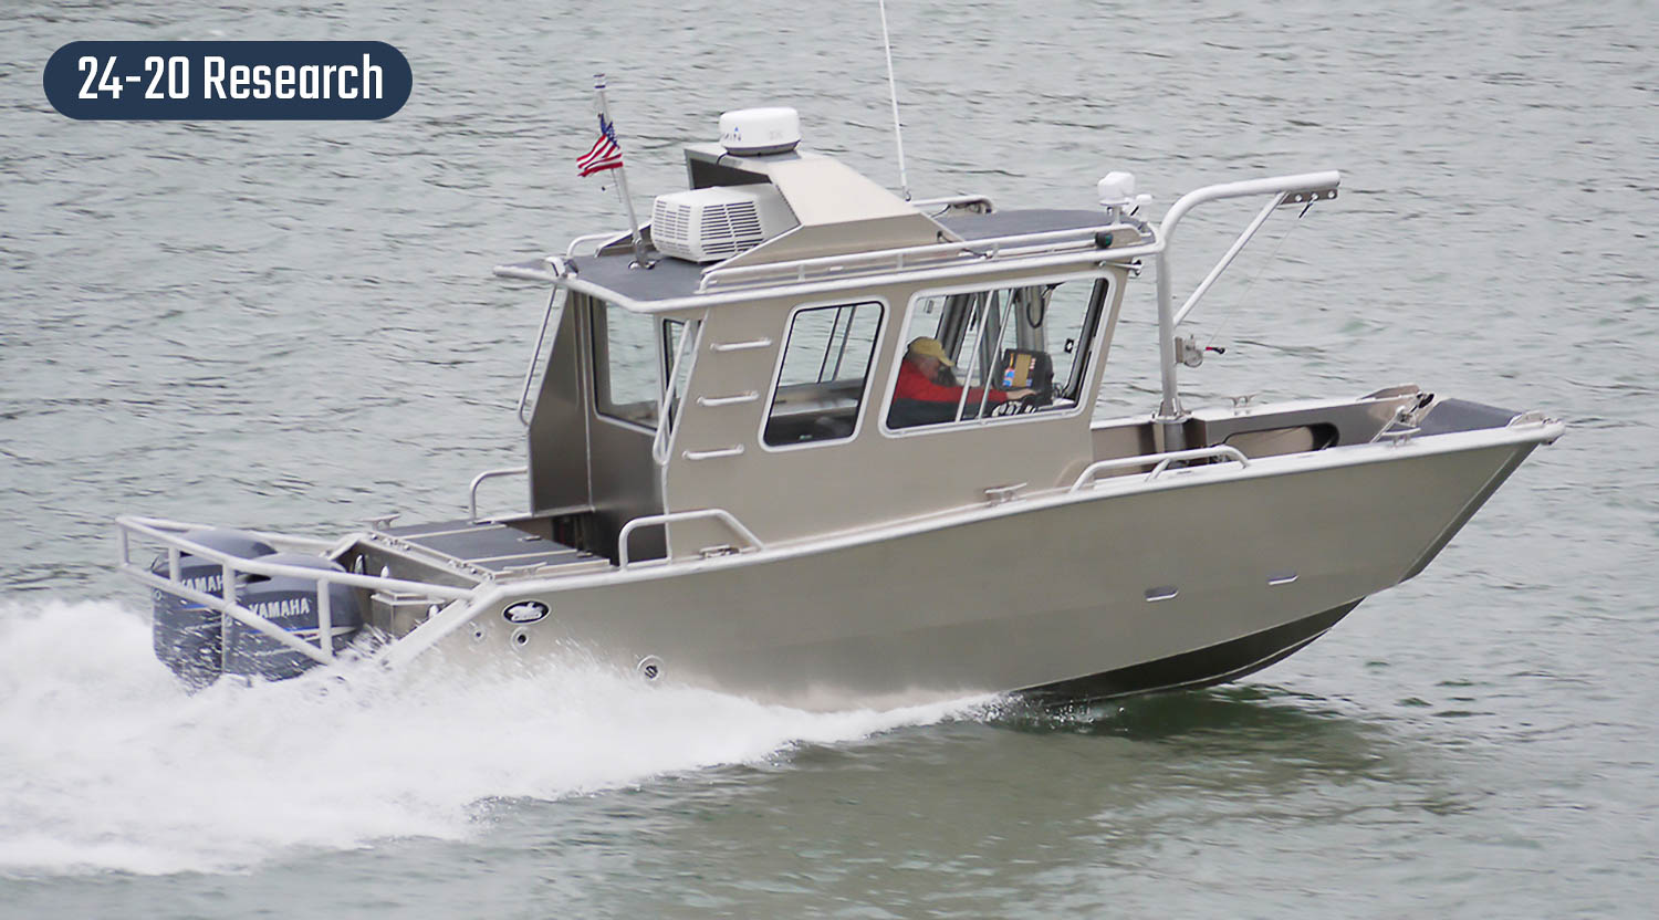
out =
<path fill-rule="evenodd" d="M 1100 211 L 1067 211 L 1067 209 L 1020 209 L 992 211 L 990 214 L 957 214 L 939 217 L 947 230 L 964 242 L 990 240 L 1000 237 L 1035 235 L 1057 230 L 1083 230 L 1103 227 L 1105 215 Z M 697 265 L 680 259 L 660 257 L 650 270 L 629 269 L 634 260 L 632 250 L 617 245 L 607 255 L 582 255 L 569 260 L 574 277 L 584 287 L 602 288 L 617 295 L 619 302 L 660 303 L 698 295 L 707 265 Z M 523 267 L 542 267 L 533 262 Z M 788 282 L 766 287 L 783 287 Z M 725 288 L 720 288 L 725 290 Z M 710 293 L 710 292 L 702 292 Z"/>

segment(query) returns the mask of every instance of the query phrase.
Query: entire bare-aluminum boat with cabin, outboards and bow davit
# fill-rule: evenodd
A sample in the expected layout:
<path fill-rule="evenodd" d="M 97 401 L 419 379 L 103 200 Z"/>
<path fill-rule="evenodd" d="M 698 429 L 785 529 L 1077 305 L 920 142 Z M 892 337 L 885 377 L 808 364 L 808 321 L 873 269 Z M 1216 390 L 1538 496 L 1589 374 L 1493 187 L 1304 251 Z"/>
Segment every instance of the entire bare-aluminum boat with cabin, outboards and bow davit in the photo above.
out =
<path fill-rule="evenodd" d="M 1090 209 L 904 201 L 798 134 L 742 134 L 687 148 L 688 189 L 639 235 L 496 269 L 552 293 L 528 462 L 481 472 L 466 517 L 332 542 L 119 519 L 161 660 L 206 683 L 574 656 L 806 708 L 1201 686 L 1422 572 L 1563 431 L 1418 386 L 1183 404 L 1203 350 L 1181 320 L 1337 172 L 1203 187 L 1153 224 L 1126 174 Z M 1262 207 L 1176 308 L 1181 219 L 1236 197 Z M 1161 399 L 1097 419 L 1143 270 Z M 917 340 L 952 398 L 899 395 Z M 528 506 L 479 514 L 493 477 L 523 477 Z"/>

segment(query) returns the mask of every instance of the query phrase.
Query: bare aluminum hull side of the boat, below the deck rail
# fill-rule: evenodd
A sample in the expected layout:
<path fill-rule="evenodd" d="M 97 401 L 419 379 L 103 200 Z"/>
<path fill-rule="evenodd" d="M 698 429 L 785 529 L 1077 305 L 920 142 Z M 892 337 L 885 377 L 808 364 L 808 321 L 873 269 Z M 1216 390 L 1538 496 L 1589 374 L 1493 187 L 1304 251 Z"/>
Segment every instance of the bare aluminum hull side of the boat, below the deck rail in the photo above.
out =
<path fill-rule="evenodd" d="M 579 650 L 627 670 L 654 658 L 659 680 L 806 708 L 1214 683 L 1282 658 L 1422 570 L 1558 433 L 1203 466 L 1070 501 L 503 585 L 469 622 L 438 617 L 410 638 L 443 630 L 438 646 L 460 658 Z M 526 597 L 552 613 L 508 623 L 501 612 Z"/>

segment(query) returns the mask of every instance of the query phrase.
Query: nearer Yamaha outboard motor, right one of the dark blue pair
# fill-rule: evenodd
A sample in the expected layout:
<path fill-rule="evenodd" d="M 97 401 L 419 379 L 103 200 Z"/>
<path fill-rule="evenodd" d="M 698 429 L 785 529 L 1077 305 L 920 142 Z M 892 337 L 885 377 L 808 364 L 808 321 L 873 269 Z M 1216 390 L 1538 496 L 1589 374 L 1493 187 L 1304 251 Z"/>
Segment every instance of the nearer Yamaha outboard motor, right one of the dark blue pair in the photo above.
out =
<path fill-rule="evenodd" d="M 327 572 L 345 572 L 343 567 L 320 555 L 304 552 L 279 552 L 264 557 L 264 562 L 319 569 Z M 294 633 L 294 638 L 317 642 L 317 580 L 290 575 L 249 575 L 246 585 L 237 585 L 237 600 L 254 613 L 259 613 L 274 625 Z M 363 613 L 358 607 L 357 588 L 352 585 L 328 585 L 328 620 L 333 633 L 333 650 L 350 645 L 357 630 L 363 625 Z M 265 680 L 287 680 L 299 676 L 315 665 L 309 658 L 265 633 L 227 618 L 224 622 L 224 670 L 231 675 L 257 676 Z"/>

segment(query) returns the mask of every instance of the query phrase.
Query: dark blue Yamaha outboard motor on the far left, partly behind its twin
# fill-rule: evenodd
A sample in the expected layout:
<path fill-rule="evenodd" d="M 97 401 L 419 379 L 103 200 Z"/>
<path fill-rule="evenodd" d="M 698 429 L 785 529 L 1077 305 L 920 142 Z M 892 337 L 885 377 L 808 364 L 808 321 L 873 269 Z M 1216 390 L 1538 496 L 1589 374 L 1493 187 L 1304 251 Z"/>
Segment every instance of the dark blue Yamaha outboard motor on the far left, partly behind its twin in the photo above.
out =
<path fill-rule="evenodd" d="M 184 539 L 241 559 L 257 559 L 277 552 L 270 544 L 242 530 L 191 530 L 184 534 Z M 166 579 L 168 554 L 161 554 L 149 570 Z M 179 554 L 179 580 L 184 582 L 184 587 L 224 597 L 224 567 L 212 559 Z M 239 592 L 244 580 L 246 575 L 239 579 Z M 151 592 L 151 598 L 154 608 L 151 632 L 156 658 L 171 668 L 191 690 L 201 690 L 219 680 L 224 648 L 221 643 L 219 612 L 159 588 Z"/>

